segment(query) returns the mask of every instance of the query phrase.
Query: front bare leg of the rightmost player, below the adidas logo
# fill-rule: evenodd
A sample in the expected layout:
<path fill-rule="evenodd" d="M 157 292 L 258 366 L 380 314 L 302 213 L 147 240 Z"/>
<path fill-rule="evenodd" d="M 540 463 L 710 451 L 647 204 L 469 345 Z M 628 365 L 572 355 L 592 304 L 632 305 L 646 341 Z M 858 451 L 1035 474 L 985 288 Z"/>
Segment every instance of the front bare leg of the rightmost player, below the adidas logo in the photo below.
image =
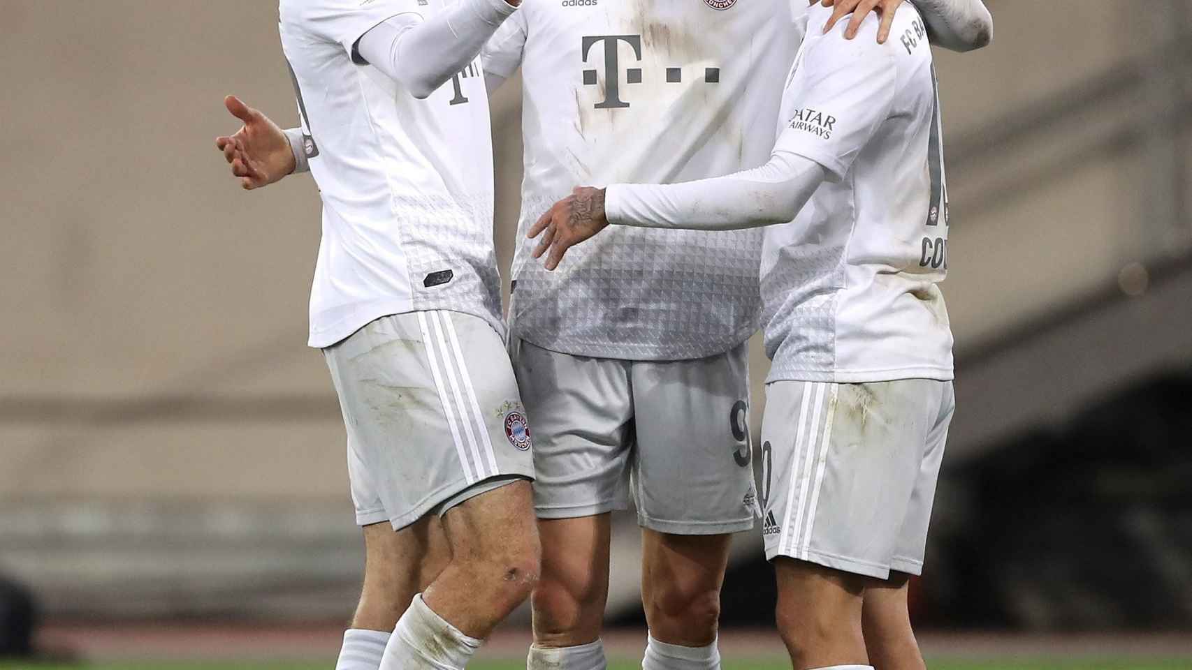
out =
<path fill-rule="evenodd" d="M 795 670 L 868 665 L 861 612 L 865 577 L 778 557 L 777 622 Z"/>

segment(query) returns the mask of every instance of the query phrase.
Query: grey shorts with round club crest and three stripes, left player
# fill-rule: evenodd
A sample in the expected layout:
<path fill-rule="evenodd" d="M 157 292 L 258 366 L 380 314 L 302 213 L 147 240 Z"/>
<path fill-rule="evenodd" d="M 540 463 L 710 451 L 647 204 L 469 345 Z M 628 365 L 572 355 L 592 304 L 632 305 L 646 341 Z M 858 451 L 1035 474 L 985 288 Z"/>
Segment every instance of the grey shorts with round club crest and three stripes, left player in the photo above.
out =
<path fill-rule="evenodd" d="M 484 319 L 427 311 L 372 321 L 323 350 L 348 432 L 356 522 L 401 530 L 533 480 L 526 409 Z"/>

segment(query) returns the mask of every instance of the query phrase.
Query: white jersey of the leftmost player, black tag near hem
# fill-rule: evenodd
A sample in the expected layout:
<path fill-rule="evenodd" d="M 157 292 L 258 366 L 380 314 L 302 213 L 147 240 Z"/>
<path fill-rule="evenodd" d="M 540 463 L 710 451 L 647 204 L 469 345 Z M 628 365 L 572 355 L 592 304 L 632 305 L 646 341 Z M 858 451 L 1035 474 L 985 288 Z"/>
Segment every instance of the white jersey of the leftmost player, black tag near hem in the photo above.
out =
<path fill-rule="evenodd" d="M 449 1 L 449 0 L 446 0 Z M 492 244 L 492 140 L 479 60 L 426 100 L 354 48 L 380 23 L 428 19 L 445 0 L 281 0 L 323 234 L 310 345 L 423 309 L 480 317 L 503 333 Z"/>

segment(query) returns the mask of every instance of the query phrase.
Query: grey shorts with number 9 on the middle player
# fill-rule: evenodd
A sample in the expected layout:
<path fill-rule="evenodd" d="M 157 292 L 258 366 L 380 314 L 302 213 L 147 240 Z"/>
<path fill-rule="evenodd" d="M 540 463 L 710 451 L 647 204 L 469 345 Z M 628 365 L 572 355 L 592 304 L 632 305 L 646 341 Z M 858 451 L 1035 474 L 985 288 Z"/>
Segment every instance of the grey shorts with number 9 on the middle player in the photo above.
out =
<path fill-rule="evenodd" d="M 539 518 L 626 509 L 653 531 L 753 527 L 747 345 L 695 361 L 642 362 L 513 343 L 534 426 Z"/>

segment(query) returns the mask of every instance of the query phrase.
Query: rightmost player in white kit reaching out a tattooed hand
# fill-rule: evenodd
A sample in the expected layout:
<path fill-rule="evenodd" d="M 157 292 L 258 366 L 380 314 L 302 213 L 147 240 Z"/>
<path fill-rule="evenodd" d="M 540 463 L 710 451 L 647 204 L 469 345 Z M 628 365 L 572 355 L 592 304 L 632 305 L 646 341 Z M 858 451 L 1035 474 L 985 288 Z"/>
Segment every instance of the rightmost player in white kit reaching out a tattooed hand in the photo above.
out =
<path fill-rule="evenodd" d="M 874 19 L 848 42 L 824 33 L 828 18 L 802 18 L 765 165 L 577 189 L 530 234 L 553 269 L 608 223 L 774 226 L 760 268 L 774 361 L 760 499 L 780 631 L 796 669 L 923 668 L 906 583 L 921 571 L 954 411 L 939 101 L 913 7 L 886 44 L 867 39 Z"/>

